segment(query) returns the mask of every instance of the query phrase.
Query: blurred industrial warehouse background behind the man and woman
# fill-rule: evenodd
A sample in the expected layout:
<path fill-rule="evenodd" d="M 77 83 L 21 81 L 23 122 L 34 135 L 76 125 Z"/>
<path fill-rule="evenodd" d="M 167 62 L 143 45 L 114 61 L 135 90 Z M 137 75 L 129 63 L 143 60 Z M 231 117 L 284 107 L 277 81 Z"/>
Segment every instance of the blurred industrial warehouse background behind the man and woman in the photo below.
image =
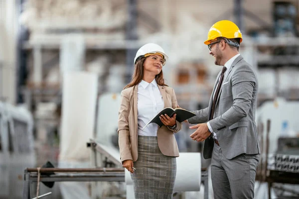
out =
<path fill-rule="evenodd" d="M 203 41 L 223 19 L 241 29 L 240 53 L 260 83 L 255 198 L 298 199 L 298 13 L 299 0 L 0 0 L 0 199 L 21 199 L 24 169 L 47 161 L 121 168 L 103 154 L 92 160 L 86 143 L 118 150 L 120 92 L 145 43 L 169 55 L 163 74 L 178 104 L 207 107 L 220 68 Z M 201 152 L 191 132 L 184 124 L 176 134 L 180 152 Z M 201 168 L 209 164 L 202 158 Z M 30 183 L 31 196 L 36 186 Z M 203 198 L 204 186 L 175 197 Z M 40 195 L 49 191 L 45 199 L 75 199 L 76 191 L 78 199 L 126 198 L 124 183 L 40 185 Z"/>

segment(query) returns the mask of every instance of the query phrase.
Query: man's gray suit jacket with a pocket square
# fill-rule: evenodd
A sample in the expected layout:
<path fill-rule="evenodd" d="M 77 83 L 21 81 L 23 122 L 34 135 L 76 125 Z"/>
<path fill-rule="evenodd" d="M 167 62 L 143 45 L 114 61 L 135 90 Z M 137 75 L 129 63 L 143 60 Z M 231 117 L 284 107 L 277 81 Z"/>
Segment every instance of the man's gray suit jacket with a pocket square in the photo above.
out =
<path fill-rule="evenodd" d="M 221 73 L 221 72 L 220 72 Z M 212 99 L 220 73 L 214 85 L 209 106 L 193 111 L 196 116 L 189 123 L 204 123 L 211 114 Z M 233 62 L 215 107 L 210 125 L 217 134 L 224 156 L 232 159 L 240 154 L 260 154 L 257 126 L 255 123 L 258 80 L 252 67 L 240 55 Z M 212 135 L 204 142 L 203 157 L 212 157 L 214 140 Z"/>

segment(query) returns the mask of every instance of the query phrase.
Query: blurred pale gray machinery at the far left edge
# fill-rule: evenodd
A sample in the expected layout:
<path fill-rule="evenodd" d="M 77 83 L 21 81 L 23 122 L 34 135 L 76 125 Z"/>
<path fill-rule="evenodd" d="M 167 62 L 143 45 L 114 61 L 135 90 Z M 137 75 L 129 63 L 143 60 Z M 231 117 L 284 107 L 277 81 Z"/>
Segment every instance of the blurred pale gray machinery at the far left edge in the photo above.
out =
<path fill-rule="evenodd" d="M 24 168 L 35 162 L 31 113 L 0 102 L 0 199 L 22 198 Z"/>

